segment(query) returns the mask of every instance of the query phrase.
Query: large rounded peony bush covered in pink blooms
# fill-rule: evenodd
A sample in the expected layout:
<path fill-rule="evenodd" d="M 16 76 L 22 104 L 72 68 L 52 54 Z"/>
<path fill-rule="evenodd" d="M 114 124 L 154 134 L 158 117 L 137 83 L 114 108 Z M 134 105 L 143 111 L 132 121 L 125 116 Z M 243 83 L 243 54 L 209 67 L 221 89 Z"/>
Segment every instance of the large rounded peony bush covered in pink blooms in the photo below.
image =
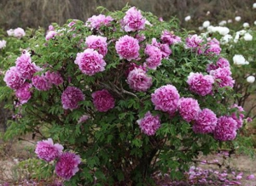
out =
<path fill-rule="evenodd" d="M 54 37 L 30 38 L 30 55 L 6 68 L 4 88 L 21 115 L 6 136 L 59 141 L 63 153 L 44 141 L 36 152 L 56 158 L 67 183 L 150 185 L 155 170 L 179 179 L 200 152 L 236 138 L 240 119 L 223 102 L 234 80 L 217 39 L 188 36 L 176 20 L 134 7 L 49 28 Z"/>

